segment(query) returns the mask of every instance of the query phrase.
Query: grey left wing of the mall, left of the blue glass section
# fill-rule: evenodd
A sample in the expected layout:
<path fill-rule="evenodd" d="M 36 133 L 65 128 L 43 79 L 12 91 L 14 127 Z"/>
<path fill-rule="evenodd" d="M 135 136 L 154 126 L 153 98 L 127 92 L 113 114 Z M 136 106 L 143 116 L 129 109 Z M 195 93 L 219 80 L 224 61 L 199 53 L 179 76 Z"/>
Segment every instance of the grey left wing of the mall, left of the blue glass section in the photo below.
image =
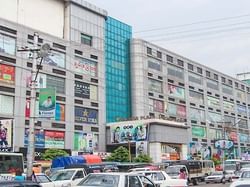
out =
<path fill-rule="evenodd" d="M 42 62 L 37 86 L 56 88 L 56 116 L 36 115 L 36 148 L 104 151 L 107 12 L 76 0 L 5 2 L 0 8 L 0 120 L 8 130 L 8 145 L 1 149 L 26 151 L 33 64 L 31 53 L 17 49 L 32 48 L 33 34 L 38 32 L 39 45 L 49 43 L 52 52 Z M 33 15 L 42 8 L 46 15 Z M 4 13 L 10 9 L 17 11 Z"/>

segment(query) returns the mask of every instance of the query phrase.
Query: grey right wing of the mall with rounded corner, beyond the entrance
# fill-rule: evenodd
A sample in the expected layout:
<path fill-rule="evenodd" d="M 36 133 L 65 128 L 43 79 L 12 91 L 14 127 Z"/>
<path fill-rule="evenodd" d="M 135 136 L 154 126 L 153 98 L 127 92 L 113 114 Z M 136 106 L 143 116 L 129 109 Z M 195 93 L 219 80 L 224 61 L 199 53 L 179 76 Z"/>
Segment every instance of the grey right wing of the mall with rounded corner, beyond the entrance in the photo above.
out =
<path fill-rule="evenodd" d="M 140 39 L 131 41 L 132 115 L 186 122 L 188 156 L 221 156 L 215 140 L 230 139 L 228 158 L 250 146 L 249 85 Z M 160 148 L 164 154 L 163 147 Z"/>

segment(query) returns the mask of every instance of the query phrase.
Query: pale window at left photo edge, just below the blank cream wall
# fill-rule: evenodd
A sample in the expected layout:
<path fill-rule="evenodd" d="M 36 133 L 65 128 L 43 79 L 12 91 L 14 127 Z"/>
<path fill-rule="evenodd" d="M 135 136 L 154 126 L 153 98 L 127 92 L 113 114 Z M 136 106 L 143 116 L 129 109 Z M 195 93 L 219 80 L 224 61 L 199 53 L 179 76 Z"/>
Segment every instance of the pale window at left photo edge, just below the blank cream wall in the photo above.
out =
<path fill-rule="evenodd" d="M 0 34 L 0 52 L 15 55 L 16 39 Z"/>

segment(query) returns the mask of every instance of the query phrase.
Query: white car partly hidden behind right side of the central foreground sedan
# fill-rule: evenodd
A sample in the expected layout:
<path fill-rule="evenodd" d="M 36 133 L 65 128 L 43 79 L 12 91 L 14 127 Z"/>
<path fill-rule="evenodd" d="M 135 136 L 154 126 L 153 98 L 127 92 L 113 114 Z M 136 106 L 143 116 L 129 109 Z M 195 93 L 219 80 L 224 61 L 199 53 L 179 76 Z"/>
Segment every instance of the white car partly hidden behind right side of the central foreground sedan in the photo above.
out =
<path fill-rule="evenodd" d="M 172 179 L 165 171 L 138 171 L 133 172 L 145 175 L 152 180 L 156 186 L 170 187 L 170 186 L 188 186 L 185 179 Z"/>

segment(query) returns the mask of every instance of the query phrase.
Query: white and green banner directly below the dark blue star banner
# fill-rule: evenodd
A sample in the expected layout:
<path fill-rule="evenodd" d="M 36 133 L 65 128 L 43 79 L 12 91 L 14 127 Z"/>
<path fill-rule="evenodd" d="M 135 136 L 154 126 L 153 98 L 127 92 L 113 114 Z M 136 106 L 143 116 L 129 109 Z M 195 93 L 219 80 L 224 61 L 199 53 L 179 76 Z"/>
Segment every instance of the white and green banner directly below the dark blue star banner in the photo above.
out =
<path fill-rule="evenodd" d="M 97 150 L 98 140 L 93 133 L 75 132 L 74 150 L 83 152 L 94 152 Z"/>

